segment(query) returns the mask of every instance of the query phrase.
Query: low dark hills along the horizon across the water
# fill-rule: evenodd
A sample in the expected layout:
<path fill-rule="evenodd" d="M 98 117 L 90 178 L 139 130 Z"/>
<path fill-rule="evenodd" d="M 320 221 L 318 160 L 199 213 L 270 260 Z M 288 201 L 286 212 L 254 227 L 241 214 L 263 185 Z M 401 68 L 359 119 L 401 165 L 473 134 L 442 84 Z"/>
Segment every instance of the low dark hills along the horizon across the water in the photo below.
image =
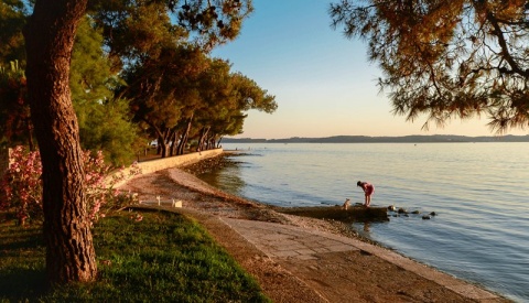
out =
<path fill-rule="evenodd" d="M 466 137 L 455 134 L 367 137 L 334 136 L 326 138 L 251 139 L 224 138 L 223 143 L 442 143 L 442 142 L 529 142 L 529 136 Z"/>

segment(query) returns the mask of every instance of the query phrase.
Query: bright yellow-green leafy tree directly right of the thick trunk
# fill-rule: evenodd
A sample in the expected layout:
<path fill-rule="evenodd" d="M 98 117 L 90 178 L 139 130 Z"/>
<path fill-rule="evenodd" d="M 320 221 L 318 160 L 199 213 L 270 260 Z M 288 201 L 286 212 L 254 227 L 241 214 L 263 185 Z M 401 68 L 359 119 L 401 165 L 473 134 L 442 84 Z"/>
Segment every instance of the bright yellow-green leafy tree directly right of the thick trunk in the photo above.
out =
<path fill-rule="evenodd" d="M 111 72 L 102 52 L 102 35 L 84 18 L 72 55 L 71 89 L 85 150 L 102 150 L 115 165 L 130 164 L 138 128 L 129 118 L 127 100 L 114 99 L 122 80 Z"/>

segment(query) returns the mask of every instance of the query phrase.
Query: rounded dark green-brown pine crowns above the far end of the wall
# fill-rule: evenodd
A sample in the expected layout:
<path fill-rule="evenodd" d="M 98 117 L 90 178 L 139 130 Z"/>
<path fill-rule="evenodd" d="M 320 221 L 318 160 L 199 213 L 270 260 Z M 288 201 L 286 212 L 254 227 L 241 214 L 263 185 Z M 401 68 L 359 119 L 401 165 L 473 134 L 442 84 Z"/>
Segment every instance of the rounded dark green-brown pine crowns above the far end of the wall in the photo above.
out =
<path fill-rule="evenodd" d="M 231 73 L 228 62 L 205 56 L 195 47 L 168 48 L 159 59 L 145 61 L 125 74 L 137 121 L 143 121 L 166 155 L 170 141 L 195 137 L 198 148 L 213 148 L 225 134 L 242 131 L 244 112 L 273 112 L 274 96 L 256 82 Z M 176 136 L 176 137 L 175 137 Z"/>

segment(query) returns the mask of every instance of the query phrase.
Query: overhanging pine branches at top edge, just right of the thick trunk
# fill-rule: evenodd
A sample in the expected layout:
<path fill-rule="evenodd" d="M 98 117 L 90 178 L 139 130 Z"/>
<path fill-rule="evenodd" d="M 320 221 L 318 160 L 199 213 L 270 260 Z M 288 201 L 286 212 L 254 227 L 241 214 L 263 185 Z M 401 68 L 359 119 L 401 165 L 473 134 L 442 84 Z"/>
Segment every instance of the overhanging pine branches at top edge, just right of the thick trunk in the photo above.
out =
<path fill-rule="evenodd" d="M 95 0 L 89 4 L 117 65 L 156 56 L 160 45 L 184 40 L 209 51 L 234 40 L 253 11 L 251 0 Z M 177 24 L 171 24 L 175 20 Z"/>

